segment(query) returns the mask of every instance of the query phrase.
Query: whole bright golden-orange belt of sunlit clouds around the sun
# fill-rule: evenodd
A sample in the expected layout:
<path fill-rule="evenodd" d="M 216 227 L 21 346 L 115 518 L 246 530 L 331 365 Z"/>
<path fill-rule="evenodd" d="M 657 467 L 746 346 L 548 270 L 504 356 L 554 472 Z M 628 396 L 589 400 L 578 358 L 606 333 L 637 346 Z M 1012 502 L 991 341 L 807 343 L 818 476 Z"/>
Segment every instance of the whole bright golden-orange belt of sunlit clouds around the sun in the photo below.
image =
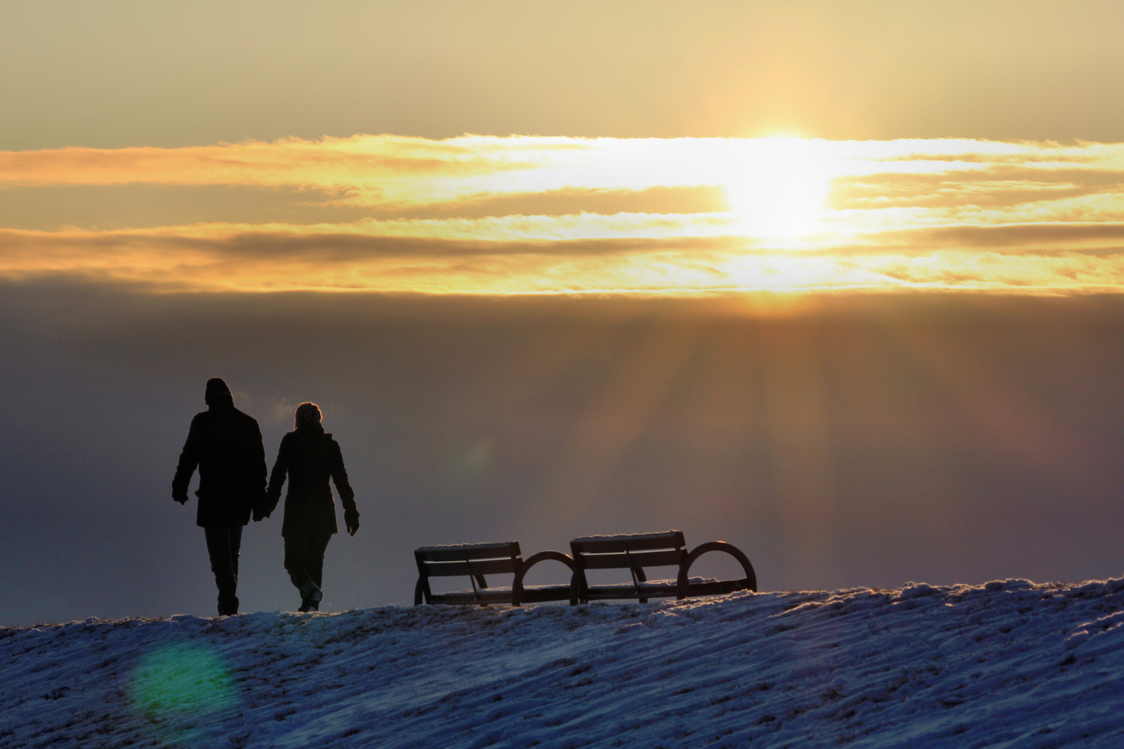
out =
<path fill-rule="evenodd" d="M 1124 145 L 1096 143 L 354 136 L 6 152 L 9 194 L 238 186 L 318 214 L 94 228 L 60 204 L 0 229 L 0 274 L 154 291 L 1121 291 L 1122 183 Z M 659 191 L 700 189 L 706 210 L 645 210 Z M 614 195 L 633 210 L 598 210 Z"/>

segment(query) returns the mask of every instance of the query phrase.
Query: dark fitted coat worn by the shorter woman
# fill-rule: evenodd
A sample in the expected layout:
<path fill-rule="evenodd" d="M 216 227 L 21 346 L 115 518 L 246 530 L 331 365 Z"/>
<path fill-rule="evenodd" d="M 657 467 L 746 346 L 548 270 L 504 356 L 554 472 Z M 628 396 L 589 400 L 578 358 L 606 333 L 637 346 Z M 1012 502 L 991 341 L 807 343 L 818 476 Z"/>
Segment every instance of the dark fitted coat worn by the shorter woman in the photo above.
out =
<path fill-rule="evenodd" d="M 302 424 L 282 437 L 277 463 L 270 473 L 264 508 L 266 514 L 273 512 L 281 499 L 285 474 L 289 476 L 289 491 L 284 497 L 281 535 L 288 538 L 302 532 L 339 532 L 328 478 L 335 482 L 344 510 L 355 510 L 355 492 L 347 482 L 339 442 L 319 423 Z"/>

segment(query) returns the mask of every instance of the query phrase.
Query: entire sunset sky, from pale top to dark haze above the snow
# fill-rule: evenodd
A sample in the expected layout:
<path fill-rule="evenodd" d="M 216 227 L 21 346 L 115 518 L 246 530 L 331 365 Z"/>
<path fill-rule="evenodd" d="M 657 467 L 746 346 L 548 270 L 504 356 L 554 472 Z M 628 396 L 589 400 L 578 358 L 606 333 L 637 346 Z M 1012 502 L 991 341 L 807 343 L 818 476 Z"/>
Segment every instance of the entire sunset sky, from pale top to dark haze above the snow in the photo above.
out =
<path fill-rule="evenodd" d="M 3 4 L 0 624 L 212 608 L 169 490 L 210 376 L 270 462 L 324 408 L 364 513 L 336 610 L 405 602 L 416 546 L 670 527 L 767 590 L 1120 574 L 1122 33 L 1114 1 Z M 246 610 L 294 605 L 279 535 L 247 529 Z"/>

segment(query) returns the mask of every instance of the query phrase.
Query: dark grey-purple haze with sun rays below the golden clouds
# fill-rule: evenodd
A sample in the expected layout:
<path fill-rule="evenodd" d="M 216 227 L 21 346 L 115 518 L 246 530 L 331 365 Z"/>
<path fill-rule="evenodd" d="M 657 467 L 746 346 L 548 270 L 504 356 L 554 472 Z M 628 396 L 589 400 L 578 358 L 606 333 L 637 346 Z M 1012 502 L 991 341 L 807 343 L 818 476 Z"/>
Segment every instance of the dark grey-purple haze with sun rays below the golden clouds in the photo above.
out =
<path fill-rule="evenodd" d="M 4 624 L 210 612 L 170 495 L 210 376 L 271 464 L 305 400 L 343 447 L 363 526 L 328 548 L 326 610 L 408 604 L 417 546 L 672 527 L 769 591 L 1122 568 L 1114 294 L 2 298 Z M 294 605 L 281 556 L 279 515 L 247 527 L 244 610 Z"/>

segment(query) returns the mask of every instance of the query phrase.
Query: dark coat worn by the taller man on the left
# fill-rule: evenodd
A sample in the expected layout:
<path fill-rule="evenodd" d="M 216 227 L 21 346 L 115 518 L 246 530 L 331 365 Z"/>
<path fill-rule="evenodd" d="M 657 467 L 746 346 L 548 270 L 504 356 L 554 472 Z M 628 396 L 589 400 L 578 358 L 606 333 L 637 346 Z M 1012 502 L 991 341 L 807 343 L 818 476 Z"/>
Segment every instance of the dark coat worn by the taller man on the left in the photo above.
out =
<path fill-rule="evenodd" d="M 197 526 L 245 526 L 265 494 L 265 448 L 257 421 L 228 398 L 191 420 L 172 479 L 172 495 L 187 495 L 199 467 Z"/>

